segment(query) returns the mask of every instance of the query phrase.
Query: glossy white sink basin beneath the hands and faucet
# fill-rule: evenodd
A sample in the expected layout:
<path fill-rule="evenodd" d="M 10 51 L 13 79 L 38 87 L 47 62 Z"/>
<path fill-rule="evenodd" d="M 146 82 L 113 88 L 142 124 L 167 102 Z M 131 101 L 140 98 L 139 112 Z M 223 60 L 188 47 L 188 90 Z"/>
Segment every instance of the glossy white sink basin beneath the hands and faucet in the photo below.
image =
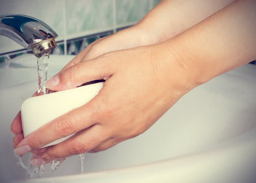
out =
<path fill-rule="evenodd" d="M 49 76 L 73 57 L 51 55 Z M 236 177 L 253 175 L 256 66 L 248 64 L 187 93 L 144 134 L 105 152 L 86 154 L 85 175 L 68 176 L 81 172 L 80 158 L 73 156 L 54 172 L 46 168 L 45 177 L 51 178 L 24 180 L 25 171 L 14 158 L 10 126 L 22 102 L 37 89 L 37 70 L 33 55 L 14 62 L 24 68 L 0 69 L 0 182 L 234 183 Z M 152 162 L 157 163 L 147 164 Z M 110 169 L 116 170 L 106 171 Z"/>

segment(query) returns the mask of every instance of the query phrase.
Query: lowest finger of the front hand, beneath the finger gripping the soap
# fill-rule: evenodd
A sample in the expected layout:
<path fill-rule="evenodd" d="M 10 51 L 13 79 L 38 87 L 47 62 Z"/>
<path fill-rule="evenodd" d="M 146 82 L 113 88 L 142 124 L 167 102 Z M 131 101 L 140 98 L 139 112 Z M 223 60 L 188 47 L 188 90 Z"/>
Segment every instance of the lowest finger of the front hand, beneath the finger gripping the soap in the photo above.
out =
<path fill-rule="evenodd" d="M 102 126 L 97 124 L 90 128 L 79 131 L 60 144 L 54 145 L 41 155 L 32 159 L 33 166 L 39 166 L 41 162 L 48 163 L 54 159 L 63 159 L 71 155 L 88 152 L 106 140 Z"/>

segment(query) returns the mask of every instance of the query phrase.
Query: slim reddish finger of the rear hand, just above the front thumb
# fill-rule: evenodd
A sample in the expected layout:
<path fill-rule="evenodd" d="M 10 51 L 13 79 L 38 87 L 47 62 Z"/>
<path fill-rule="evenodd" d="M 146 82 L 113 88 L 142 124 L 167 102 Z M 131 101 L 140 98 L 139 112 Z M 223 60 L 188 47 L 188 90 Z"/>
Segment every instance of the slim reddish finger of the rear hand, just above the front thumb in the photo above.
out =
<path fill-rule="evenodd" d="M 63 69 L 60 70 L 59 73 L 62 73 L 64 70 L 66 70 L 67 68 L 71 67 L 71 66 L 74 66 L 78 63 L 80 63 L 85 55 L 89 52 L 89 50 L 91 49 L 91 46 L 92 45 L 95 45 L 96 43 L 98 43 L 99 41 L 101 41 L 102 39 L 105 39 L 106 37 L 104 38 L 99 38 L 97 39 L 96 41 L 94 41 L 93 43 L 91 43 L 90 45 L 88 45 L 82 52 L 80 52 L 74 59 L 72 59 L 66 66 L 63 67 Z M 59 74 L 57 73 L 57 74 Z M 56 74 L 56 75 L 57 75 Z"/>

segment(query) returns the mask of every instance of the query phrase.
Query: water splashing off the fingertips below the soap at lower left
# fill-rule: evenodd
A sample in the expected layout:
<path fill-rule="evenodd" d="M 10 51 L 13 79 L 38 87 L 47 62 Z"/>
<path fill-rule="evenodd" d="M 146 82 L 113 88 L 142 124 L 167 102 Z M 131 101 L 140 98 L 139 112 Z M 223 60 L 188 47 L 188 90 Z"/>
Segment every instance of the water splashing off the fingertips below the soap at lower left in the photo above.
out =
<path fill-rule="evenodd" d="M 21 166 L 23 169 L 25 169 L 27 172 L 27 175 L 30 178 L 39 178 L 44 175 L 44 170 L 45 170 L 44 165 L 41 165 L 39 167 L 32 166 L 31 159 L 32 159 L 33 155 L 31 153 L 29 153 L 29 155 L 27 155 L 28 159 L 24 160 L 24 162 L 22 161 L 21 156 L 18 156 L 18 155 L 14 155 L 14 156 L 18 159 L 17 165 Z"/>

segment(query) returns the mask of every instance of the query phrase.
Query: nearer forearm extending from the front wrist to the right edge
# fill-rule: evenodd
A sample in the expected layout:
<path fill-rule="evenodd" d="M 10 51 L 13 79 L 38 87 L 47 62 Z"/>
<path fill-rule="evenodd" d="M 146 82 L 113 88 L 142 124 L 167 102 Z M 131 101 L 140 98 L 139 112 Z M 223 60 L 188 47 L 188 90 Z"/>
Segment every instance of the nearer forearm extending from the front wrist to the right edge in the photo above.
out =
<path fill-rule="evenodd" d="M 163 44 L 195 85 L 256 59 L 256 1 L 238 0 Z M 174 50 L 174 51 L 173 51 Z"/>

